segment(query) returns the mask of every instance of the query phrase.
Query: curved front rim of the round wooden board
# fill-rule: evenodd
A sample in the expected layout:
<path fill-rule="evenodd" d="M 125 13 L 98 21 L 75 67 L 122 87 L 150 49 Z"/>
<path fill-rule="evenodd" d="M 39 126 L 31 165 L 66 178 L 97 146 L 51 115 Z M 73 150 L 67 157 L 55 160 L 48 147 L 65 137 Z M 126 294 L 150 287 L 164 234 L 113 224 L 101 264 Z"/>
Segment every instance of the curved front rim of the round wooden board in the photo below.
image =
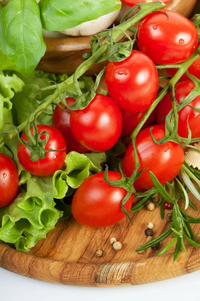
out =
<path fill-rule="evenodd" d="M 20 260 L 19 260 L 20 256 Z M 188 247 L 173 262 L 173 252 L 129 262 L 65 262 L 18 252 L 0 243 L 0 267 L 45 282 L 79 286 L 118 286 L 151 283 L 200 269 L 200 250 Z"/>

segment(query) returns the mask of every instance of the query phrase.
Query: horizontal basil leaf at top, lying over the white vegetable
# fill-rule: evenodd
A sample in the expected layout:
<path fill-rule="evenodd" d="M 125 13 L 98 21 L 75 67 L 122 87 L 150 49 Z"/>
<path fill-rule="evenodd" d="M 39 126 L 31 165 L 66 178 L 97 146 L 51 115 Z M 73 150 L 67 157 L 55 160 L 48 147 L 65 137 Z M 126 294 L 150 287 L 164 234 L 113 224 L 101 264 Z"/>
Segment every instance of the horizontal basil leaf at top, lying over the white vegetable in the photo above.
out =
<path fill-rule="evenodd" d="M 47 31 L 64 31 L 119 10 L 119 0 L 40 0 L 41 22 Z"/>

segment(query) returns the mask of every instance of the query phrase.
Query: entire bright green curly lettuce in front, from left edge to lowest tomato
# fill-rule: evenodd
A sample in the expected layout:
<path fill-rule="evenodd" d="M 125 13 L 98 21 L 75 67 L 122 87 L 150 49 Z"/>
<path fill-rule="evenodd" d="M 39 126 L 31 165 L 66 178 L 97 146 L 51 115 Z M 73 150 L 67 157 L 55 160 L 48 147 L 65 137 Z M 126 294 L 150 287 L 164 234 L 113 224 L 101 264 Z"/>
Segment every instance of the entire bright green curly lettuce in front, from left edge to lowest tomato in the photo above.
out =
<path fill-rule="evenodd" d="M 19 251 L 29 251 L 54 229 L 59 219 L 71 215 L 70 206 L 63 198 L 71 195 L 84 179 L 100 172 L 104 161 L 104 153 L 71 152 L 66 156 L 64 171 L 57 171 L 51 177 L 27 179 L 26 190 L 21 187 L 14 202 L 0 209 L 0 240 L 14 244 Z"/>

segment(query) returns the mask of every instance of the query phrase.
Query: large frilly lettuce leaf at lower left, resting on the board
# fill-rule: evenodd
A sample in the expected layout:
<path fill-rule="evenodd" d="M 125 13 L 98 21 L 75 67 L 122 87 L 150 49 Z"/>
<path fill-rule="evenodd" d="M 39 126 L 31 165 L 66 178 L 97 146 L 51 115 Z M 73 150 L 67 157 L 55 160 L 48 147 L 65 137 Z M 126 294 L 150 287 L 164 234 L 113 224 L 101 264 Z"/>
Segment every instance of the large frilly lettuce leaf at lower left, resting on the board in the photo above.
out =
<path fill-rule="evenodd" d="M 0 209 L 0 240 L 14 244 L 19 251 L 27 252 L 38 240 L 45 238 L 62 216 L 62 212 L 54 208 L 52 195 L 47 192 L 52 185 L 50 179 L 42 183 L 40 180 L 30 179 L 27 192 L 21 190 L 12 204 Z"/>

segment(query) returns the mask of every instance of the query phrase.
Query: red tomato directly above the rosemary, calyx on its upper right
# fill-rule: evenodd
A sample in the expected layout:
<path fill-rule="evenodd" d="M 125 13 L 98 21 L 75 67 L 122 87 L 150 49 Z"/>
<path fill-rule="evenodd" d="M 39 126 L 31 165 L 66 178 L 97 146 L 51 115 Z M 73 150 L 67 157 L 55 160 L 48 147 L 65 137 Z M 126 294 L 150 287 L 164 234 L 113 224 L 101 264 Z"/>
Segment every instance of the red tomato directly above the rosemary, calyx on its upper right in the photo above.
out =
<path fill-rule="evenodd" d="M 152 134 L 156 140 L 164 136 L 164 125 L 153 125 L 152 127 Z M 139 170 L 145 168 L 134 182 L 136 190 L 148 190 L 154 186 L 149 171 L 162 185 L 177 176 L 184 162 L 184 152 L 180 145 L 171 141 L 160 145 L 155 144 L 150 135 L 150 127 L 144 128 L 138 133 L 136 145 L 140 164 Z M 122 163 L 123 172 L 127 177 L 130 177 L 135 167 L 132 142 L 126 149 Z"/>

